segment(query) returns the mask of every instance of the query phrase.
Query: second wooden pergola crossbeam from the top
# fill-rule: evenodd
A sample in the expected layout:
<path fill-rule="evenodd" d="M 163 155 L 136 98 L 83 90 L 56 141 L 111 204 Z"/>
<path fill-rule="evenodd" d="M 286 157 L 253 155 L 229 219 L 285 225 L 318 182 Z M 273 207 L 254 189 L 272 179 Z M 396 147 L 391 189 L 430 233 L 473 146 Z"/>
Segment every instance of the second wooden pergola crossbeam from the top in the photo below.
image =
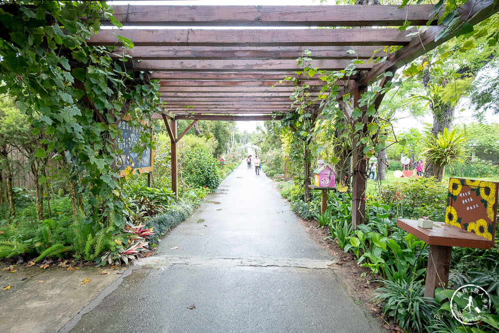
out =
<path fill-rule="evenodd" d="M 385 46 L 405 45 L 416 30 L 351 29 L 101 29 L 89 45 L 114 46 L 115 34 L 135 46 Z"/>

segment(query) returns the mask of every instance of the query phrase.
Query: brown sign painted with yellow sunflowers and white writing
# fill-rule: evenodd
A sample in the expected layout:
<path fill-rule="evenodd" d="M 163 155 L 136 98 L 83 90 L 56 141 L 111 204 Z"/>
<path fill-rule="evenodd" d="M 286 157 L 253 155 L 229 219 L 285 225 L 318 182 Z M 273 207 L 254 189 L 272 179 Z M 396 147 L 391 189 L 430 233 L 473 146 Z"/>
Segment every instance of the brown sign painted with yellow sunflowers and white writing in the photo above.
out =
<path fill-rule="evenodd" d="M 498 183 L 451 178 L 445 223 L 491 242 L 496 230 Z"/>

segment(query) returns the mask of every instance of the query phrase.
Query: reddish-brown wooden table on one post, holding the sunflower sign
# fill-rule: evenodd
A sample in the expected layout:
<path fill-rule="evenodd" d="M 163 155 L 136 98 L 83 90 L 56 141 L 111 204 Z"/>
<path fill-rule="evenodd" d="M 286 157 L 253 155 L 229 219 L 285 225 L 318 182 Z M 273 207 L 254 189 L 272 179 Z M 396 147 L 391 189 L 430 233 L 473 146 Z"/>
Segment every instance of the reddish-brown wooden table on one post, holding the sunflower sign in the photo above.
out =
<path fill-rule="evenodd" d="M 397 220 L 397 226 L 430 245 L 426 270 L 425 297 L 435 297 L 435 289 L 447 288 L 451 267 L 452 247 L 490 249 L 494 242 L 451 226 L 433 222 L 433 229 L 418 227 L 417 220 Z"/>

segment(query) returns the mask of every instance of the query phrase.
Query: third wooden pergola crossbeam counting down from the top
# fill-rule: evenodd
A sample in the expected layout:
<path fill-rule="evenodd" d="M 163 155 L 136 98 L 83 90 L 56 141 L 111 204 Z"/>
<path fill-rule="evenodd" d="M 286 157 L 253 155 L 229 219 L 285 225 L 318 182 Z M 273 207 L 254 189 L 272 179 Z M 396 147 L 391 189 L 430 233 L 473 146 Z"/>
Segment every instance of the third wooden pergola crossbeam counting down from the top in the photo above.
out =
<path fill-rule="evenodd" d="M 134 46 L 132 49 L 118 46 L 111 57 L 129 55 L 135 60 L 295 60 L 308 49 L 313 59 L 369 59 L 374 54 L 384 56 L 384 48 L 377 46 Z M 353 51 L 353 53 L 352 53 Z"/>

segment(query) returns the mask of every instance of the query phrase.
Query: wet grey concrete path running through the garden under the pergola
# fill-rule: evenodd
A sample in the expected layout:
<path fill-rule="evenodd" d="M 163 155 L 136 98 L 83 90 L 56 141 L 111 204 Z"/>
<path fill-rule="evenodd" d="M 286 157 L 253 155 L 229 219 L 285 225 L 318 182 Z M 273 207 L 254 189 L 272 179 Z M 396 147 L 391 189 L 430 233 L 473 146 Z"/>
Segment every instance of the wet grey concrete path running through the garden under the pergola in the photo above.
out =
<path fill-rule="evenodd" d="M 384 332 L 264 174 L 208 200 L 59 332 Z"/>

